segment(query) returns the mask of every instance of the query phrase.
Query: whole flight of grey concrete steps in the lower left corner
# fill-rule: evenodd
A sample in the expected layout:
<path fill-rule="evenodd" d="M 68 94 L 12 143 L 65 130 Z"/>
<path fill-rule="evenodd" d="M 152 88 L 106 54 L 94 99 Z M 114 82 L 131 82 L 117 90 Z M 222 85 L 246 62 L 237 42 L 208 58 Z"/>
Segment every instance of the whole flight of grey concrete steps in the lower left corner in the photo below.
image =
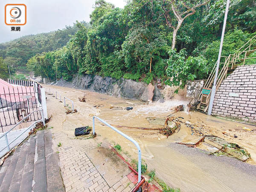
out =
<path fill-rule="evenodd" d="M 50 130 L 37 131 L 0 167 L 0 192 L 64 192 Z"/>

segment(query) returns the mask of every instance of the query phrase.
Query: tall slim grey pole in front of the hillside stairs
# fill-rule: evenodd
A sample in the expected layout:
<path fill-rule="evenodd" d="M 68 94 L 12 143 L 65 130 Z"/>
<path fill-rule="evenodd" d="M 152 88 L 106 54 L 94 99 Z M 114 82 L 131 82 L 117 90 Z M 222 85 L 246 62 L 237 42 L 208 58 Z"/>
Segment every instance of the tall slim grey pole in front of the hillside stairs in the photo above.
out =
<path fill-rule="evenodd" d="M 217 81 L 217 78 L 218 78 L 218 68 L 219 68 L 220 60 L 221 60 L 221 51 L 222 51 L 224 33 L 225 33 L 225 28 L 226 28 L 227 12 L 228 12 L 228 8 L 229 8 L 229 3 L 230 3 L 230 0 L 227 0 L 224 22 L 223 22 L 223 28 L 222 28 L 222 34 L 221 34 L 221 44 L 220 44 L 220 49 L 219 49 L 219 54 L 218 54 L 218 60 L 217 60 L 214 83 L 213 83 L 213 87 L 212 87 L 212 90 L 211 90 L 212 93 L 211 93 L 211 98 L 210 98 L 210 102 L 209 102 L 208 115 L 212 114 L 212 106 L 213 106 L 213 100 L 214 100 L 214 96 L 215 96 L 215 92 L 216 92 L 216 81 Z"/>

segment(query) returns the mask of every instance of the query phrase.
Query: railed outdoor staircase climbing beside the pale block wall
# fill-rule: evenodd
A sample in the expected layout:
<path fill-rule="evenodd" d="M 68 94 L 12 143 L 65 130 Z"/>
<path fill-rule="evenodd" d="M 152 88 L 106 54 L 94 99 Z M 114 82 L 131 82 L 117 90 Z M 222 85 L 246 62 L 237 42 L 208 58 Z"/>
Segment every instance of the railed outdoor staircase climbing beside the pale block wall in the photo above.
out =
<path fill-rule="evenodd" d="M 250 54 L 256 51 L 256 35 L 253 36 L 246 44 L 244 44 L 239 50 L 237 50 L 234 54 L 230 54 L 228 57 L 221 56 L 220 67 L 221 70 L 218 71 L 218 78 L 216 81 L 216 91 L 218 87 L 221 85 L 223 79 L 227 78 L 227 75 L 232 73 L 238 65 L 244 65 L 247 59 L 252 59 L 256 57 L 251 57 Z M 217 67 L 217 62 L 215 63 L 209 78 L 204 84 L 204 88 L 201 91 L 201 94 L 198 97 L 197 109 L 206 112 L 209 107 L 209 100 L 211 97 L 211 90 L 215 78 L 215 71 Z"/>

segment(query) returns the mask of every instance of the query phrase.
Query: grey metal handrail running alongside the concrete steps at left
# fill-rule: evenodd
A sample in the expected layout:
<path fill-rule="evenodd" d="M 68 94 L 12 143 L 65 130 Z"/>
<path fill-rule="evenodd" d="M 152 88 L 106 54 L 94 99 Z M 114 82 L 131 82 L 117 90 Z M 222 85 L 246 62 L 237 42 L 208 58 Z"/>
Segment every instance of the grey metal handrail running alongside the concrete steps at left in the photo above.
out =
<path fill-rule="evenodd" d="M 25 119 L 27 119 L 29 116 L 31 116 L 33 113 L 38 112 L 38 111 L 41 112 L 41 117 L 42 117 L 42 119 L 33 122 L 32 125 L 30 125 L 28 128 L 26 128 L 25 131 L 23 131 L 18 137 L 15 137 L 15 139 L 12 140 L 11 143 L 9 143 L 9 142 L 8 142 L 8 138 L 7 138 L 7 134 L 8 134 L 10 131 L 12 131 L 17 125 L 19 125 L 21 122 L 23 122 L 23 121 L 24 121 Z M 8 151 L 10 151 L 10 145 L 11 145 L 15 140 L 17 140 L 17 138 L 19 138 L 23 133 L 25 133 L 29 128 L 31 128 L 33 125 L 35 125 L 37 122 L 40 122 L 40 121 L 42 121 L 43 124 L 44 124 L 44 126 L 45 126 L 44 111 L 43 111 L 43 109 L 32 111 L 32 113 L 29 113 L 27 116 L 25 116 L 25 117 L 24 117 L 20 122 L 18 122 L 13 128 L 11 128 L 9 131 L 5 132 L 2 136 L 0 136 L 0 139 L 1 139 L 2 137 L 5 137 L 5 140 L 6 140 L 6 147 L 7 147 Z M 4 147 L 1 151 L 3 151 L 6 147 Z M 0 152 L 1 152 L 1 151 L 0 151 Z"/>

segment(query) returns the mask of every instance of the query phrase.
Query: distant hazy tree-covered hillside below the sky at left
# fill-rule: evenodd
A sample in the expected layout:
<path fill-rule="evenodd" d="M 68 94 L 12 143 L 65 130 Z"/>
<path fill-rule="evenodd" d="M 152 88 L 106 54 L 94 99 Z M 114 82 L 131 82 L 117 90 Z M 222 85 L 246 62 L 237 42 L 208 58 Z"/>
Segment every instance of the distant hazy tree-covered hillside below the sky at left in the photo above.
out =
<path fill-rule="evenodd" d="M 74 35 L 78 28 L 66 26 L 65 29 L 40 33 L 37 35 L 26 35 L 21 38 L 0 44 L 0 56 L 4 62 L 17 70 L 26 70 L 26 63 L 32 56 L 63 47 Z"/>

